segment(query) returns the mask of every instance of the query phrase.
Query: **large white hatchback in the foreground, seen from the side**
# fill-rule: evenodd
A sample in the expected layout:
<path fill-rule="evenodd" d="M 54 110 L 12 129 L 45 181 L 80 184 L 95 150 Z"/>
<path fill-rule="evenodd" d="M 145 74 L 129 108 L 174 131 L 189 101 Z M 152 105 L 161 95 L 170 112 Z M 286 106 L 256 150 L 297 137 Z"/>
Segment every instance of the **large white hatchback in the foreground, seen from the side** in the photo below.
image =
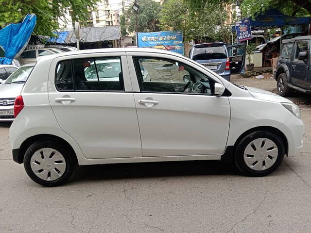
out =
<path fill-rule="evenodd" d="M 107 60 L 119 61 L 113 81 L 111 68 L 96 65 Z M 86 79 L 89 62 L 95 67 Z M 42 57 L 15 100 L 14 115 L 13 159 L 45 186 L 66 182 L 76 165 L 112 163 L 222 160 L 264 176 L 303 147 L 304 125 L 292 101 L 229 83 L 164 50 Z"/>

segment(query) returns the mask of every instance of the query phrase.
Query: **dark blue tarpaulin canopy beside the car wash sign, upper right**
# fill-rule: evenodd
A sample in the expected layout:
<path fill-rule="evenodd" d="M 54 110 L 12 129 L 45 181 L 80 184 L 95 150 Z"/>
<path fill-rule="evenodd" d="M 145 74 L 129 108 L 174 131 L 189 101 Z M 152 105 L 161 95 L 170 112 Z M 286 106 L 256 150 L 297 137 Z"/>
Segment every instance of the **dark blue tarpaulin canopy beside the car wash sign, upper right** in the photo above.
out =
<path fill-rule="evenodd" d="M 276 28 L 284 25 L 309 24 L 310 17 L 286 16 L 276 9 L 267 10 L 264 14 L 250 20 L 252 29 Z M 235 32 L 235 26 L 232 27 Z"/>

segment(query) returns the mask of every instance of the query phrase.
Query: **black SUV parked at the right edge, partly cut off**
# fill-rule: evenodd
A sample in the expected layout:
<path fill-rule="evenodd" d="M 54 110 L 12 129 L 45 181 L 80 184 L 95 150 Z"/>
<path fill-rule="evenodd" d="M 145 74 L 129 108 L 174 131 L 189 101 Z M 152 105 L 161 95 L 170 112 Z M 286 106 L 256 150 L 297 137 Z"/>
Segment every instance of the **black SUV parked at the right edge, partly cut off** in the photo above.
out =
<path fill-rule="evenodd" d="M 280 96 L 289 95 L 293 89 L 311 94 L 310 43 L 310 35 L 282 41 L 275 72 Z"/>

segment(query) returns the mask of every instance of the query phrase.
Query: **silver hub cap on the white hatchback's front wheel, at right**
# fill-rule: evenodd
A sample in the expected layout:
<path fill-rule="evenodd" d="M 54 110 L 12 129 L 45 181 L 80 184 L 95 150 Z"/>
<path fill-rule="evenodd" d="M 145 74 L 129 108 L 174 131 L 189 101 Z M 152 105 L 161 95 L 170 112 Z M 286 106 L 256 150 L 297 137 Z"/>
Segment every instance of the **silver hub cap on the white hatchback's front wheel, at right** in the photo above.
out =
<path fill-rule="evenodd" d="M 275 164 L 277 155 L 277 146 L 272 140 L 257 138 L 246 146 L 244 161 L 253 170 L 266 170 Z"/>

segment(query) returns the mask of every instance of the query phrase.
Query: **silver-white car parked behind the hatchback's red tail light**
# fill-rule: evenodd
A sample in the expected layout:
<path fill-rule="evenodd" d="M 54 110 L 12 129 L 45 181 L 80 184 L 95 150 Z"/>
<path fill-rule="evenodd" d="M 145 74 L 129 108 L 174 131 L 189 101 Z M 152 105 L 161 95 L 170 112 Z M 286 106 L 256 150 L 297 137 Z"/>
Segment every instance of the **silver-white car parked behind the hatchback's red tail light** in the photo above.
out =
<path fill-rule="evenodd" d="M 19 95 L 35 64 L 19 67 L 0 86 L 0 121 L 14 120 L 14 100 Z"/>

